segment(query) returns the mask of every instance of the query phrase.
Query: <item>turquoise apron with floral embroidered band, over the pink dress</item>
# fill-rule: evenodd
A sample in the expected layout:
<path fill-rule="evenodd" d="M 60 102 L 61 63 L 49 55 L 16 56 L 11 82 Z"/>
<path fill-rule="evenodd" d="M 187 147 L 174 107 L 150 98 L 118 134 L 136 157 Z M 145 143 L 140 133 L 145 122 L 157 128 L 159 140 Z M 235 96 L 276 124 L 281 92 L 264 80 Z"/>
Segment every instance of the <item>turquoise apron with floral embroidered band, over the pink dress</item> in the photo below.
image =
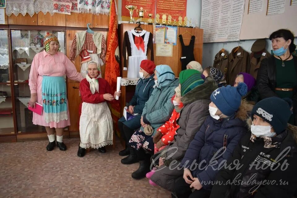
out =
<path fill-rule="evenodd" d="M 42 105 L 46 123 L 68 119 L 67 92 L 63 76 L 42 76 Z"/>

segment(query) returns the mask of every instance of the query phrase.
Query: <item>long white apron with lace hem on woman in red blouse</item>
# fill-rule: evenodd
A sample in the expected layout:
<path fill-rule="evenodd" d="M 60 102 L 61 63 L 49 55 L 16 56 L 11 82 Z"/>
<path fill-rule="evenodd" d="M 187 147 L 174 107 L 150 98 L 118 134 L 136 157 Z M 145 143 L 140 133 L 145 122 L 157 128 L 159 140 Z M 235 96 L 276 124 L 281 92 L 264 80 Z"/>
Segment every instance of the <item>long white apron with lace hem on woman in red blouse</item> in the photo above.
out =
<path fill-rule="evenodd" d="M 113 123 L 106 102 L 83 102 L 80 115 L 80 147 L 98 149 L 112 145 Z"/>

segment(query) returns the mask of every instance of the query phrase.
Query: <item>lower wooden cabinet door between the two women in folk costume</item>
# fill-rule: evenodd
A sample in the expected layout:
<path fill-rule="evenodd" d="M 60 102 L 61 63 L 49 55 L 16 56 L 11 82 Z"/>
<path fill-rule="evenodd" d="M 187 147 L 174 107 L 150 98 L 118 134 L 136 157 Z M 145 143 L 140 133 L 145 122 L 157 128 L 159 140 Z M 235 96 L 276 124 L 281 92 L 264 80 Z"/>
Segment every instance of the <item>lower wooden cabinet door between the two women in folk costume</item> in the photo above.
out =
<path fill-rule="evenodd" d="M 80 83 L 67 83 L 68 107 L 70 114 L 69 131 L 79 131 Z"/>

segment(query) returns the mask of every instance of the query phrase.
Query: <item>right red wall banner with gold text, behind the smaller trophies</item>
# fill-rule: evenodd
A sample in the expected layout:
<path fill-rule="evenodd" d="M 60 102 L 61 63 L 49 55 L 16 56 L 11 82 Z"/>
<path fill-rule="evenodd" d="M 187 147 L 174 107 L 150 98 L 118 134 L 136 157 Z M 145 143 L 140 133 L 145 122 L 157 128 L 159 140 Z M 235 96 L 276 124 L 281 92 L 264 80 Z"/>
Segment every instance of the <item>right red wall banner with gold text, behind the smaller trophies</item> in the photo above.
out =
<path fill-rule="evenodd" d="M 172 21 L 179 20 L 179 16 L 185 17 L 187 15 L 187 0 L 157 0 L 156 14 L 160 15 L 160 21 L 162 21 L 162 15 L 172 16 Z M 166 19 L 167 20 L 167 19 Z"/>

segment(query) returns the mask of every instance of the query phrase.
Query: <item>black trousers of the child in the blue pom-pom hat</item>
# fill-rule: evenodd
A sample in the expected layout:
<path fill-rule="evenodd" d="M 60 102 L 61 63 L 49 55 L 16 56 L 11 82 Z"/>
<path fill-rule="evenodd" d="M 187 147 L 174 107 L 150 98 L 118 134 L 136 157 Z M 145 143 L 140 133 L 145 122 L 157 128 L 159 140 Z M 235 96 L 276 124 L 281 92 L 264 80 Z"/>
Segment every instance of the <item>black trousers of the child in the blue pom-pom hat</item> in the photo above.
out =
<path fill-rule="evenodd" d="M 209 198 L 211 191 L 201 188 L 194 190 L 190 188 L 190 184 L 186 183 L 183 177 L 179 177 L 174 184 L 174 192 L 178 198 Z"/>

